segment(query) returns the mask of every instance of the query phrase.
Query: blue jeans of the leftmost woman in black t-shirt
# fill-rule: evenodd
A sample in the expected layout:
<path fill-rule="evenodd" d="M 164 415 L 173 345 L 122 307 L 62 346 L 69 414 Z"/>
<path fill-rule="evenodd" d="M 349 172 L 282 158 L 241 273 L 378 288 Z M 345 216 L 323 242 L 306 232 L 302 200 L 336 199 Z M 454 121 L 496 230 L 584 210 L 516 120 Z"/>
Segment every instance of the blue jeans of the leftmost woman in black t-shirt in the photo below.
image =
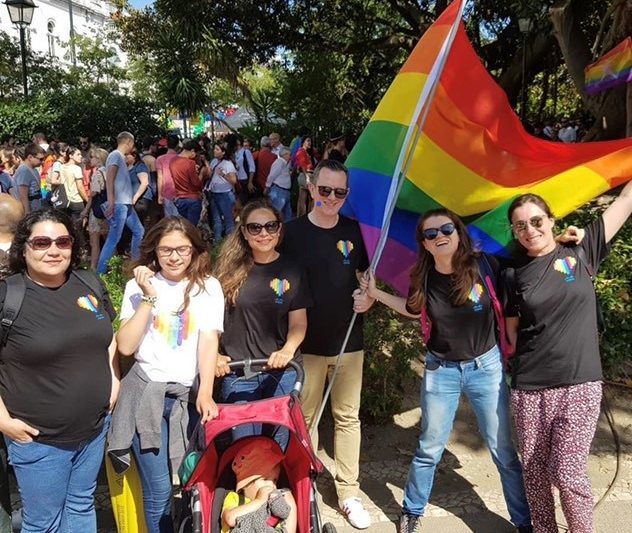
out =
<path fill-rule="evenodd" d="M 22 533 L 95 533 L 94 491 L 110 416 L 92 439 L 75 445 L 20 444 L 5 436 L 22 497 Z"/>

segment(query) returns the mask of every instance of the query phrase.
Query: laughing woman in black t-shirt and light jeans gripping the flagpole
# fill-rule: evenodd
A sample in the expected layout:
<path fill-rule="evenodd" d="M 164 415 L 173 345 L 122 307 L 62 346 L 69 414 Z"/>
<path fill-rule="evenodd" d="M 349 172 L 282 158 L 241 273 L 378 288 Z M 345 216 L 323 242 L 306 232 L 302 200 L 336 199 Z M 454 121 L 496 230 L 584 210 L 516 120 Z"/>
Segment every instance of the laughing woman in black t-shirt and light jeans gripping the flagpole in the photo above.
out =
<path fill-rule="evenodd" d="M 419 255 L 408 298 L 377 289 L 372 275 L 361 282 L 372 298 L 404 316 L 421 317 L 428 348 L 421 435 L 404 489 L 400 530 L 416 531 L 464 393 L 498 468 L 511 521 L 518 531 L 530 532 L 499 349 L 505 343 L 496 333 L 497 327 L 504 333 L 494 288 L 498 264 L 473 250 L 465 225 L 447 209 L 426 212 L 417 224 L 416 239 Z"/>

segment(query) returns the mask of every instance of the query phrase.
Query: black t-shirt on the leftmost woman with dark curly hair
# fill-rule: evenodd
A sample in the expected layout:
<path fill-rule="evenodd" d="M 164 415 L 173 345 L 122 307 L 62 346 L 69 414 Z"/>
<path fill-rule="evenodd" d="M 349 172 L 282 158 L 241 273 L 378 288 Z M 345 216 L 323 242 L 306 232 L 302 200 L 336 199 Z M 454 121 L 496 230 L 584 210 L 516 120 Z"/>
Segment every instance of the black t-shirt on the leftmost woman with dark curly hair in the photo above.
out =
<path fill-rule="evenodd" d="M 75 276 L 56 289 L 25 282 L 0 354 L 0 396 L 13 418 L 40 431 L 37 441 L 81 442 L 100 430 L 109 407 L 110 304 Z M 0 303 L 5 295 L 1 283 Z"/>

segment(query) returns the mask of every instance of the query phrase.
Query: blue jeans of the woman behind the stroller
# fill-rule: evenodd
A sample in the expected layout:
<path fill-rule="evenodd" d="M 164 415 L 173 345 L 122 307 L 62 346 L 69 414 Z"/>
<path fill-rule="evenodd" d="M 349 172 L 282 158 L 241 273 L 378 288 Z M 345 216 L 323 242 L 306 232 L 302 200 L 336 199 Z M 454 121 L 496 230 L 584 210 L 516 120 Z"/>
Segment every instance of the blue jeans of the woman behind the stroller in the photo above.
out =
<path fill-rule="evenodd" d="M 285 396 L 292 392 L 296 381 L 296 371 L 292 368 L 264 372 L 252 379 L 244 380 L 234 373 L 222 380 L 222 403 L 250 403 L 264 398 Z M 274 437 L 285 451 L 290 432 L 285 427 L 271 424 L 241 424 L 232 431 L 233 442 L 250 435 L 268 435 Z"/>

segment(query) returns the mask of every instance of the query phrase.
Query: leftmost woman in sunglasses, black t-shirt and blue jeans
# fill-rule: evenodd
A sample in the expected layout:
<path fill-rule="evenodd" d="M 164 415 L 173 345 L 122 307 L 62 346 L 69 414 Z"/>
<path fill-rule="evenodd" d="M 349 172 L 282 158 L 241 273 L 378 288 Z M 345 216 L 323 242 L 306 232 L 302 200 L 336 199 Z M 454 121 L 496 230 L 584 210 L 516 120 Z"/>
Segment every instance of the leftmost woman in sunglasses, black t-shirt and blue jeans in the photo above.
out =
<path fill-rule="evenodd" d="M 25 286 L 0 365 L 0 431 L 24 533 L 97 530 L 94 490 L 118 391 L 115 312 L 98 278 L 77 271 L 80 258 L 68 215 L 37 210 L 18 224 L 3 273 Z"/>

